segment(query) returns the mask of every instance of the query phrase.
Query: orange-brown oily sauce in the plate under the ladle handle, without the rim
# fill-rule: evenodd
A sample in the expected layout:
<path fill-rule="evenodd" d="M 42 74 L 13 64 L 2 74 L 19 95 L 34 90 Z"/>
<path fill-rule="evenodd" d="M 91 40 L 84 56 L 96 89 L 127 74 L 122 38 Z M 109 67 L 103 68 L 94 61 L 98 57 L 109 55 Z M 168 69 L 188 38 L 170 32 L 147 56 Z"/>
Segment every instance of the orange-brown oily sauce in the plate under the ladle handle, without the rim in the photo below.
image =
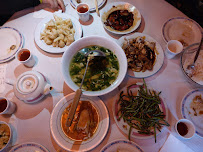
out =
<path fill-rule="evenodd" d="M 75 141 L 85 141 L 91 138 L 99 124 L 99 115 L 96 108 L 89 101 L 79 101 L 73 122 L 68 128 L 66 121 L 70 107 L 71 104 L 64 110 L 61 116 L 61 126 L 65 135 Z M 84 112 L 86 112 L 86 115 L 83 115 L 83 120 L 80 121 L 81 114 Z"/>

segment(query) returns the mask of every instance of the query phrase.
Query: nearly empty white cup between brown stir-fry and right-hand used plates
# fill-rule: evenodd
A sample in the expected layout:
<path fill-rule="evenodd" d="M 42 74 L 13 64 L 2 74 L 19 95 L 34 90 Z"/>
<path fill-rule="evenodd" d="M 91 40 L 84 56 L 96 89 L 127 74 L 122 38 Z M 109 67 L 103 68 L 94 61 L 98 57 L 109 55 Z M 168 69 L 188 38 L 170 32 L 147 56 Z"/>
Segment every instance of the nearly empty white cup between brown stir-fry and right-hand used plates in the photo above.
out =
<path fill-rule="evenodd" d="M 183 51 L 183 45 L 178 40 L 170 40 L 166 44 L 165 53 L 168 59 L 172 59 L 182 51 Z"/>

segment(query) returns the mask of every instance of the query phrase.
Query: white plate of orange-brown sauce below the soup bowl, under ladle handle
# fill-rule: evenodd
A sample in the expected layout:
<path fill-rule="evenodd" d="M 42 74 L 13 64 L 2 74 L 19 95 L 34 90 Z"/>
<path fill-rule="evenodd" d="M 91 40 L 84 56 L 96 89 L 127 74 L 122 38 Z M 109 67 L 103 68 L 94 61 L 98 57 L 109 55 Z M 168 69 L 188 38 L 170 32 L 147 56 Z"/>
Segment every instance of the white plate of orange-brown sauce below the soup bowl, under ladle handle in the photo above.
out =
<path fill-rule="evenodd" d="M 67 118 L 75 93 L 63 97 L 54 107 L 51 133 L 56 143 L 67 151 L 89 151 L 97 146 L 109 128 L 108 110 L 99 97 L 82 95 L 70 127 Z"/>

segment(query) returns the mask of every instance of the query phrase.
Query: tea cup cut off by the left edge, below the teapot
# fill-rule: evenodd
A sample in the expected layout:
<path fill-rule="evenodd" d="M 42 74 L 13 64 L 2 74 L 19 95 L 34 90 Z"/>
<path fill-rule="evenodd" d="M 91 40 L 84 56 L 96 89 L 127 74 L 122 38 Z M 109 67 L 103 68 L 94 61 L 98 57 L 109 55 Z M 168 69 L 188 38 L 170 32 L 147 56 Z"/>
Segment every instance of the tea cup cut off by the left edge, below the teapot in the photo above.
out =
<path fill-rule="evenodd" d="M 0 114 L 13 114 L 16 104 L 5 97 L 0 97 Z"/>

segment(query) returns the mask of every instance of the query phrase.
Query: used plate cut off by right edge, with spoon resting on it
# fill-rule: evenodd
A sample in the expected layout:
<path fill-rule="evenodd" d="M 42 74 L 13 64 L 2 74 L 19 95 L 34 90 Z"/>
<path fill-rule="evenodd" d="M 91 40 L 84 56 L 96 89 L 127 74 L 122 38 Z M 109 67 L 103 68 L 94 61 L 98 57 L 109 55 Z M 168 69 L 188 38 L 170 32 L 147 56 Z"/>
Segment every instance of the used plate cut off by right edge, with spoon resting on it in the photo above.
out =
<path fill-rule="evenodd" d="M 195 68 L 188 69 L 188 65 L 191 65 L 194 61 L 194 57 L 196 51 L 199 47 L 199 43 L 194 43 L 187 48 L 185 48 L 182 56 L 181 56 L 181 67 L 185 76 L 189 79 L 190 82 L 197 86 L 203 87 L 203 45 L 201 46 L 201 50 L 199 56 L 195 62 Z"/>

